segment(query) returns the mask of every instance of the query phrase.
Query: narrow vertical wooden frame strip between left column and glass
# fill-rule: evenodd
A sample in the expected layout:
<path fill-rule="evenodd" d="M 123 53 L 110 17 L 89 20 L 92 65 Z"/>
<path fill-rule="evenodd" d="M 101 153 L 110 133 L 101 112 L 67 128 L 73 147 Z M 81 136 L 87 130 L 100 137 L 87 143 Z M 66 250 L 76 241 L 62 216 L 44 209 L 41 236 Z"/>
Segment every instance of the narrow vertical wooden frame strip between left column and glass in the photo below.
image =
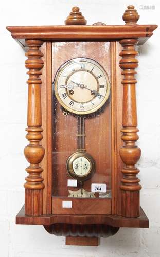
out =
<path fill-rule="evenodd" d="M 42 145 L 45 148 L 45 156 L 42 161 L 43 179 L 45 188 L 43 190 L 43 214 L 51 214 L 52 209 L 52 43 L 44 42 L 43 53 L 43 73 L 41 87 L 42 101 L 42 124 L 43 124 L 43 140 Z"/>

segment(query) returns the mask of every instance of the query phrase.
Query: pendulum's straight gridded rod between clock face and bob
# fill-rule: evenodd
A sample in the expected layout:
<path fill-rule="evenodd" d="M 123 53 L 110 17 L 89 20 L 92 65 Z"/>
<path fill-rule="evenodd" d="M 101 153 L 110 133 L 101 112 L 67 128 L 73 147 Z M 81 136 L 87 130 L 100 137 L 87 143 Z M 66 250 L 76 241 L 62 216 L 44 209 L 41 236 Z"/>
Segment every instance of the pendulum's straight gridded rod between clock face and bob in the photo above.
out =
<path fill-rule="evenodd" d="M 85 124 L 84 115 L 77 116 L 78 134 L 77 134 L 77 151 L 85 152 Z"/>

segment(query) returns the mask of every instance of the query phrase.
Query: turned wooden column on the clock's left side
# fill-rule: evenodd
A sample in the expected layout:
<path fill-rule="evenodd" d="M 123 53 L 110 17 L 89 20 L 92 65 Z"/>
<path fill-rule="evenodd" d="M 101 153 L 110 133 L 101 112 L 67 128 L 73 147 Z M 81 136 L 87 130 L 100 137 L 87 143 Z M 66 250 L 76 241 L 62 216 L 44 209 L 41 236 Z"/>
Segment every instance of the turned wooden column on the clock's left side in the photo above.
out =
<path fill-rule="evenodd" d="M 26 40 L 29 49 L 26 52 L 28 59 L 25 66 L 29 71 L 28 83 L 28 116 L 26 138 L 29 144 L 24 149 L 24 154 L 30 166 L 26 171 L 29 175 L 25 178 L 25 214 L 30 216 L 39 216 L 43 214 L 43 178 L 41 172 L 43 169 L 40 162 L 44 157 L 44 148 L 41 146 L 42 136 L 42 114 L 41 114 L 41 69 L 43 53 L 40 50 L 43 41 Z"/>

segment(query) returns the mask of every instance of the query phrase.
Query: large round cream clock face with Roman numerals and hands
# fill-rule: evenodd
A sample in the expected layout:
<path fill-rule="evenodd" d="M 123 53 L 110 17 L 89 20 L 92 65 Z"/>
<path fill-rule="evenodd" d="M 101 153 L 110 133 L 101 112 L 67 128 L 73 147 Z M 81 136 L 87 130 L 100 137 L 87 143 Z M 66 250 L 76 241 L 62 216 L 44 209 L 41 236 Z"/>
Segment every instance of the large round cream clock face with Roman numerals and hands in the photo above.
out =
<path fill-rule="evenodd" d="M 54 85 L 60 104 L 75 114 L 97 111 L 110 94 L 108 75 L 98 62 L 89 58 L 75 58 L 64 63 Z"/>

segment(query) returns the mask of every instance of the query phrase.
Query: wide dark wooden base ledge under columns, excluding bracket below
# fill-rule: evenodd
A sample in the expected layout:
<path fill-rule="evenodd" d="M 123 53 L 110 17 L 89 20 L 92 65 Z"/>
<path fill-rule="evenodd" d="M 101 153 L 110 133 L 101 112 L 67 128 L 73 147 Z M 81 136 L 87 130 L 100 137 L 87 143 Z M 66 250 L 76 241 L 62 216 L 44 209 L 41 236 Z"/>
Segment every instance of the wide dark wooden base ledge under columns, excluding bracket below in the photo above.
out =
<path fill-rule="evenodd" d="M 106 224 L 112 227 L 126 228 L 148 228 L 149 220 L 140 207 L 138 218 L 125 218 L 120 215 L 65 215 L 65 214 L 43 214 L 40 216 L 25 215 L 25 207 L 16 215 L 16 224 L 44 225 L 52 224 Z"/>

